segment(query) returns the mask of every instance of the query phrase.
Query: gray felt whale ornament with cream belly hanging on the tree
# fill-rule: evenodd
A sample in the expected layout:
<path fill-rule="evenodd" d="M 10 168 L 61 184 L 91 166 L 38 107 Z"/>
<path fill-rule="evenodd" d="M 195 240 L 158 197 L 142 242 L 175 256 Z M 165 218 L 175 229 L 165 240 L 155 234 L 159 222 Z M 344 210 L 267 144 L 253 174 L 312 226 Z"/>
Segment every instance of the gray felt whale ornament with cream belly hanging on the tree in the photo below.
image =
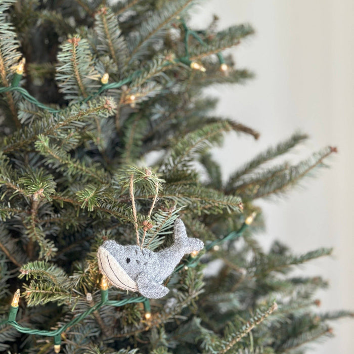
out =
<path fill-rule="evenodd" d="M 181 219 L 175 221 L 173 233 L 174 244 L 158 252 L 137 245 L 122 246 L 113 240 L 105 241 L 97 252 L 100 271 L 118 288 L 139 291 L 151 299 L 165 296 L 168 289 L 161 283 L 185 254 L 204 247 L 201 240 L 187 237 Z"/>

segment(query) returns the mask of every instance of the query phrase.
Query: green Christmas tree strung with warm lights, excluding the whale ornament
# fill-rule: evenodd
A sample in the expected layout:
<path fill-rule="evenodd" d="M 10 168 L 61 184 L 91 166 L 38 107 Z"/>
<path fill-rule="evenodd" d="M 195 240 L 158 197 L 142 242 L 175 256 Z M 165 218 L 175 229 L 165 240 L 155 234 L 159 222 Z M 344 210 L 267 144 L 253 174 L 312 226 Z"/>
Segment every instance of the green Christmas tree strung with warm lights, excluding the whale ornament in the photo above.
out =
<path fill-rule="evenodd" d="M 331 249 L 265 251 L 256 235 L 256 201 L 286 193 L 336 148 L 279 163 L 307 139 L 295 133 L 223 183 L 210 149 L 258 132 L 213 116 L 202 91 L 252 77 L 224 51 L 253 29 L 213 19 L 194 30 L 193 5 L 0 1 L 0 350 L 303 353 L 351 316 L 319 312 L 326 281 L 291 273 Z M 177 242 L 180 219 L 205 246 L 163 280 L 167 295 L 100 273 L 104 241 L 158 253 Z"/>

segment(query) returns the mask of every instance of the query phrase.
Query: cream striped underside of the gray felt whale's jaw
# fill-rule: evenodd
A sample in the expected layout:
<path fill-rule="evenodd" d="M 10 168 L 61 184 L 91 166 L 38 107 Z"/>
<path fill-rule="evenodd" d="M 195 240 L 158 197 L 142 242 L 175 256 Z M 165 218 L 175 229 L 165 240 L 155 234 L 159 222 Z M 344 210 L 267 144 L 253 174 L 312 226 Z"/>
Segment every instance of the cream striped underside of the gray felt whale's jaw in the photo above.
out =
<path fill-rule="evenodd" d="M 102 246 L 98 249 L 98 266 L 108 280 L 117 288 L 138 291 L 137 283 L 132 280 L 116 259 Z"/>

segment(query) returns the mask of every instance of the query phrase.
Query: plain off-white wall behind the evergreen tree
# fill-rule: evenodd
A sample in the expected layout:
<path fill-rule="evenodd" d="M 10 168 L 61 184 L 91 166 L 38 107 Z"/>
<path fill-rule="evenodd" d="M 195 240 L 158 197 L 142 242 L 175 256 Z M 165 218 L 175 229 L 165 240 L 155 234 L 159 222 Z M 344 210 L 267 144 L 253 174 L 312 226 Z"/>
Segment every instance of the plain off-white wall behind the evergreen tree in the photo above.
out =
<path fill-rule="evenodd" d="M 274 238 L 298 253 L 333 246 L 331 258 L 301 268 L 321 274 L 331 288 L 319 293 L 321 309 L 354 310 L 354 2 L 351 0 L 210 0 L 195 9 L 196 26 L 211 14 L 220 29 L 249 22 L 256 34 L 233 50 L 239 67 L 256 73 L 244 86 L 217 86 L 218 113 L 261 133 L 259 141 L 230 136 L 215 151 L 226 176 L 251 156 L 289 137 L 296 129 L 311 135 L 296 159 L 326 145 L 339 153 L 316 179 L 306 180 L 288 198 L 258 202 L 267 219 L 265 244 Z M 230 151 L 233 151 L 230 154 Z M 354 321 L 333 326 L 335 339 L 312 345 L 313 353 L 354 352 Z M 338 350 L 339 349 L 339 350 Z"/>

